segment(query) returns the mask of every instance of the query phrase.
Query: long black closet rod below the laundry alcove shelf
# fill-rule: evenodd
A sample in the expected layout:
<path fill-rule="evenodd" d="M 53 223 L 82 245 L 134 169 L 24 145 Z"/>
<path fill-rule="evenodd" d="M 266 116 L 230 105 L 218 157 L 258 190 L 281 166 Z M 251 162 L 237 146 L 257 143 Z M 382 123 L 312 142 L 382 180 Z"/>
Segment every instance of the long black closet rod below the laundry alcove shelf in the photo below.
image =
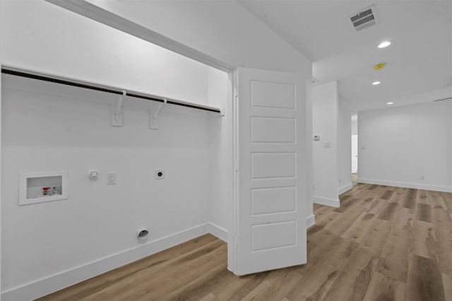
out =
<path fill-rule="evenodd" d="M 107 92 L 107 93 L 114 93 L 114 94 L 119 94 L 122 95 L 122 91 L 123 90 L 119 90 L 119 89 L 115 89 L 115 88 L 110 88 L 104 85 L 93 85 L 90 83 L 85 83 L 83 81 L 71 81 L 69 79 L 66 78 L 57 78 L 57 77 L 52 77 L 52 76 L 47 76 L 47 75 L 43 75 L 40 73 L 30 73 L 27 71 L 23 71 L 23 70 L 18 70 L 18 69 L 12 69 L 12 68 L 8 68 L 3 66 L 1 68 L 1 73 L 5 73 L 5 74 L 9 74 L 9 75 L 13 75 L 13 76 L 20 76 L 20 77 L 25 77 L 25 78 L 32 78 L 32 79 L 37 79 L 40 81 L 49 81 L 51 83 L 60 83 L 62 85 L 72 85 L 73 87 L 78 87 L 78 88 L 85 88 L 85 89 L 91 89 L 91 90 L 97 90 L 97 91 L 102 91 L 102 92 Z M 165 102 L 165 98 L 159 98 L 153 95 L 144 95 L 141 93 L 134 93 L 134 92 L 126 92 L 127 96 L 131 96 L 133 98 L 142 98 L 145 100 L 153 100 L 153 101 L 157 101 L 157 102 Z M 198 110 L 204 110 L 204 111 L 209 111 L 209 112 L 215 112 L 215 113 L 221 113 L 220 109 L 214 108 L 214 107 L 206 107 L 206 106 L 202 106 L 202 105 L 195 105 L 195 104 L 191 104 L 189 102 L 182 102 L 179 100 L 170 100 L 170 99 L 166 99 L 166 102 L 170 105 L 180 105 L 182 107 L 192 107 L 194 109 L 198 109 Z"/>

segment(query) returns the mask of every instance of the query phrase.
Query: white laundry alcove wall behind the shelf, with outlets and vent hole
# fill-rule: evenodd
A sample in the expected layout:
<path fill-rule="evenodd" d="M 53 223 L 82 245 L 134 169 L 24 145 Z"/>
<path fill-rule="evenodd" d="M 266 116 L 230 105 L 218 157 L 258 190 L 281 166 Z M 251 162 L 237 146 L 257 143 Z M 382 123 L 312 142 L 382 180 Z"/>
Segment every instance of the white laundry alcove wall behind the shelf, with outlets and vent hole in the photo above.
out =
<path fill-rule="evenodd" d="M 226 73 L 44 1 L 1 1 L 0 25 L 2 64 L 225 106 Z M 117 95 L 2 78 L 3 299 L 40 297 L 212 230 L 210 203 L 220 209 L 226 196 L 212 199 L 207 188 L 216 176 L 209 155 L 212 141 L 224 143 L 226 119 L 167 105 L 153 131 L 152 102 L 126 98 L 124 126 L 112 127 Z M 155 169 L 166 179 L 153 179 Z M 19 173 L 49 170 L 69 171 L 69 199 L 18 206 Z M 107 172 L 117 185 L 107 186 Z M 213 229 L 225 236 L 215 212 Z M 141 227 L 150 229 L 145 244 Z"/>

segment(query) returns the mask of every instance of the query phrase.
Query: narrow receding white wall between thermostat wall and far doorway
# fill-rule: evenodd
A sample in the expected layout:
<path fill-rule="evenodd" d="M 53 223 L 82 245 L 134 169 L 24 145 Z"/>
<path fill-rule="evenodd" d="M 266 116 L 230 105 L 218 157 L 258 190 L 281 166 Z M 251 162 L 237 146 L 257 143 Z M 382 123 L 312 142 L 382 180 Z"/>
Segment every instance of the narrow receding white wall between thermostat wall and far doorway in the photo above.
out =
<path fill-rule="evenodd" d="M 338 103 L 338 178 L 339 194 L 352 189 L 352 107 Z"/>

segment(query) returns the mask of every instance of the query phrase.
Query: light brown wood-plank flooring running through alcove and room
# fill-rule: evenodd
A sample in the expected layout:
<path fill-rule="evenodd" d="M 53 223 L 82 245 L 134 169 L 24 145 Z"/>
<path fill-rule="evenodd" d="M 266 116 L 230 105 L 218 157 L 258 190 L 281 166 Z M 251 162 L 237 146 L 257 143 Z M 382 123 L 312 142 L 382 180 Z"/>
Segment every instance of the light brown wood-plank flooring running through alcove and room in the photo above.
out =
<path fill-rule="evenodd" d="M 314 206 L 308 264 L 248 276 L 203 235 L 41 300 L 452 300 L 452 194 L 355 184 Z"/>

